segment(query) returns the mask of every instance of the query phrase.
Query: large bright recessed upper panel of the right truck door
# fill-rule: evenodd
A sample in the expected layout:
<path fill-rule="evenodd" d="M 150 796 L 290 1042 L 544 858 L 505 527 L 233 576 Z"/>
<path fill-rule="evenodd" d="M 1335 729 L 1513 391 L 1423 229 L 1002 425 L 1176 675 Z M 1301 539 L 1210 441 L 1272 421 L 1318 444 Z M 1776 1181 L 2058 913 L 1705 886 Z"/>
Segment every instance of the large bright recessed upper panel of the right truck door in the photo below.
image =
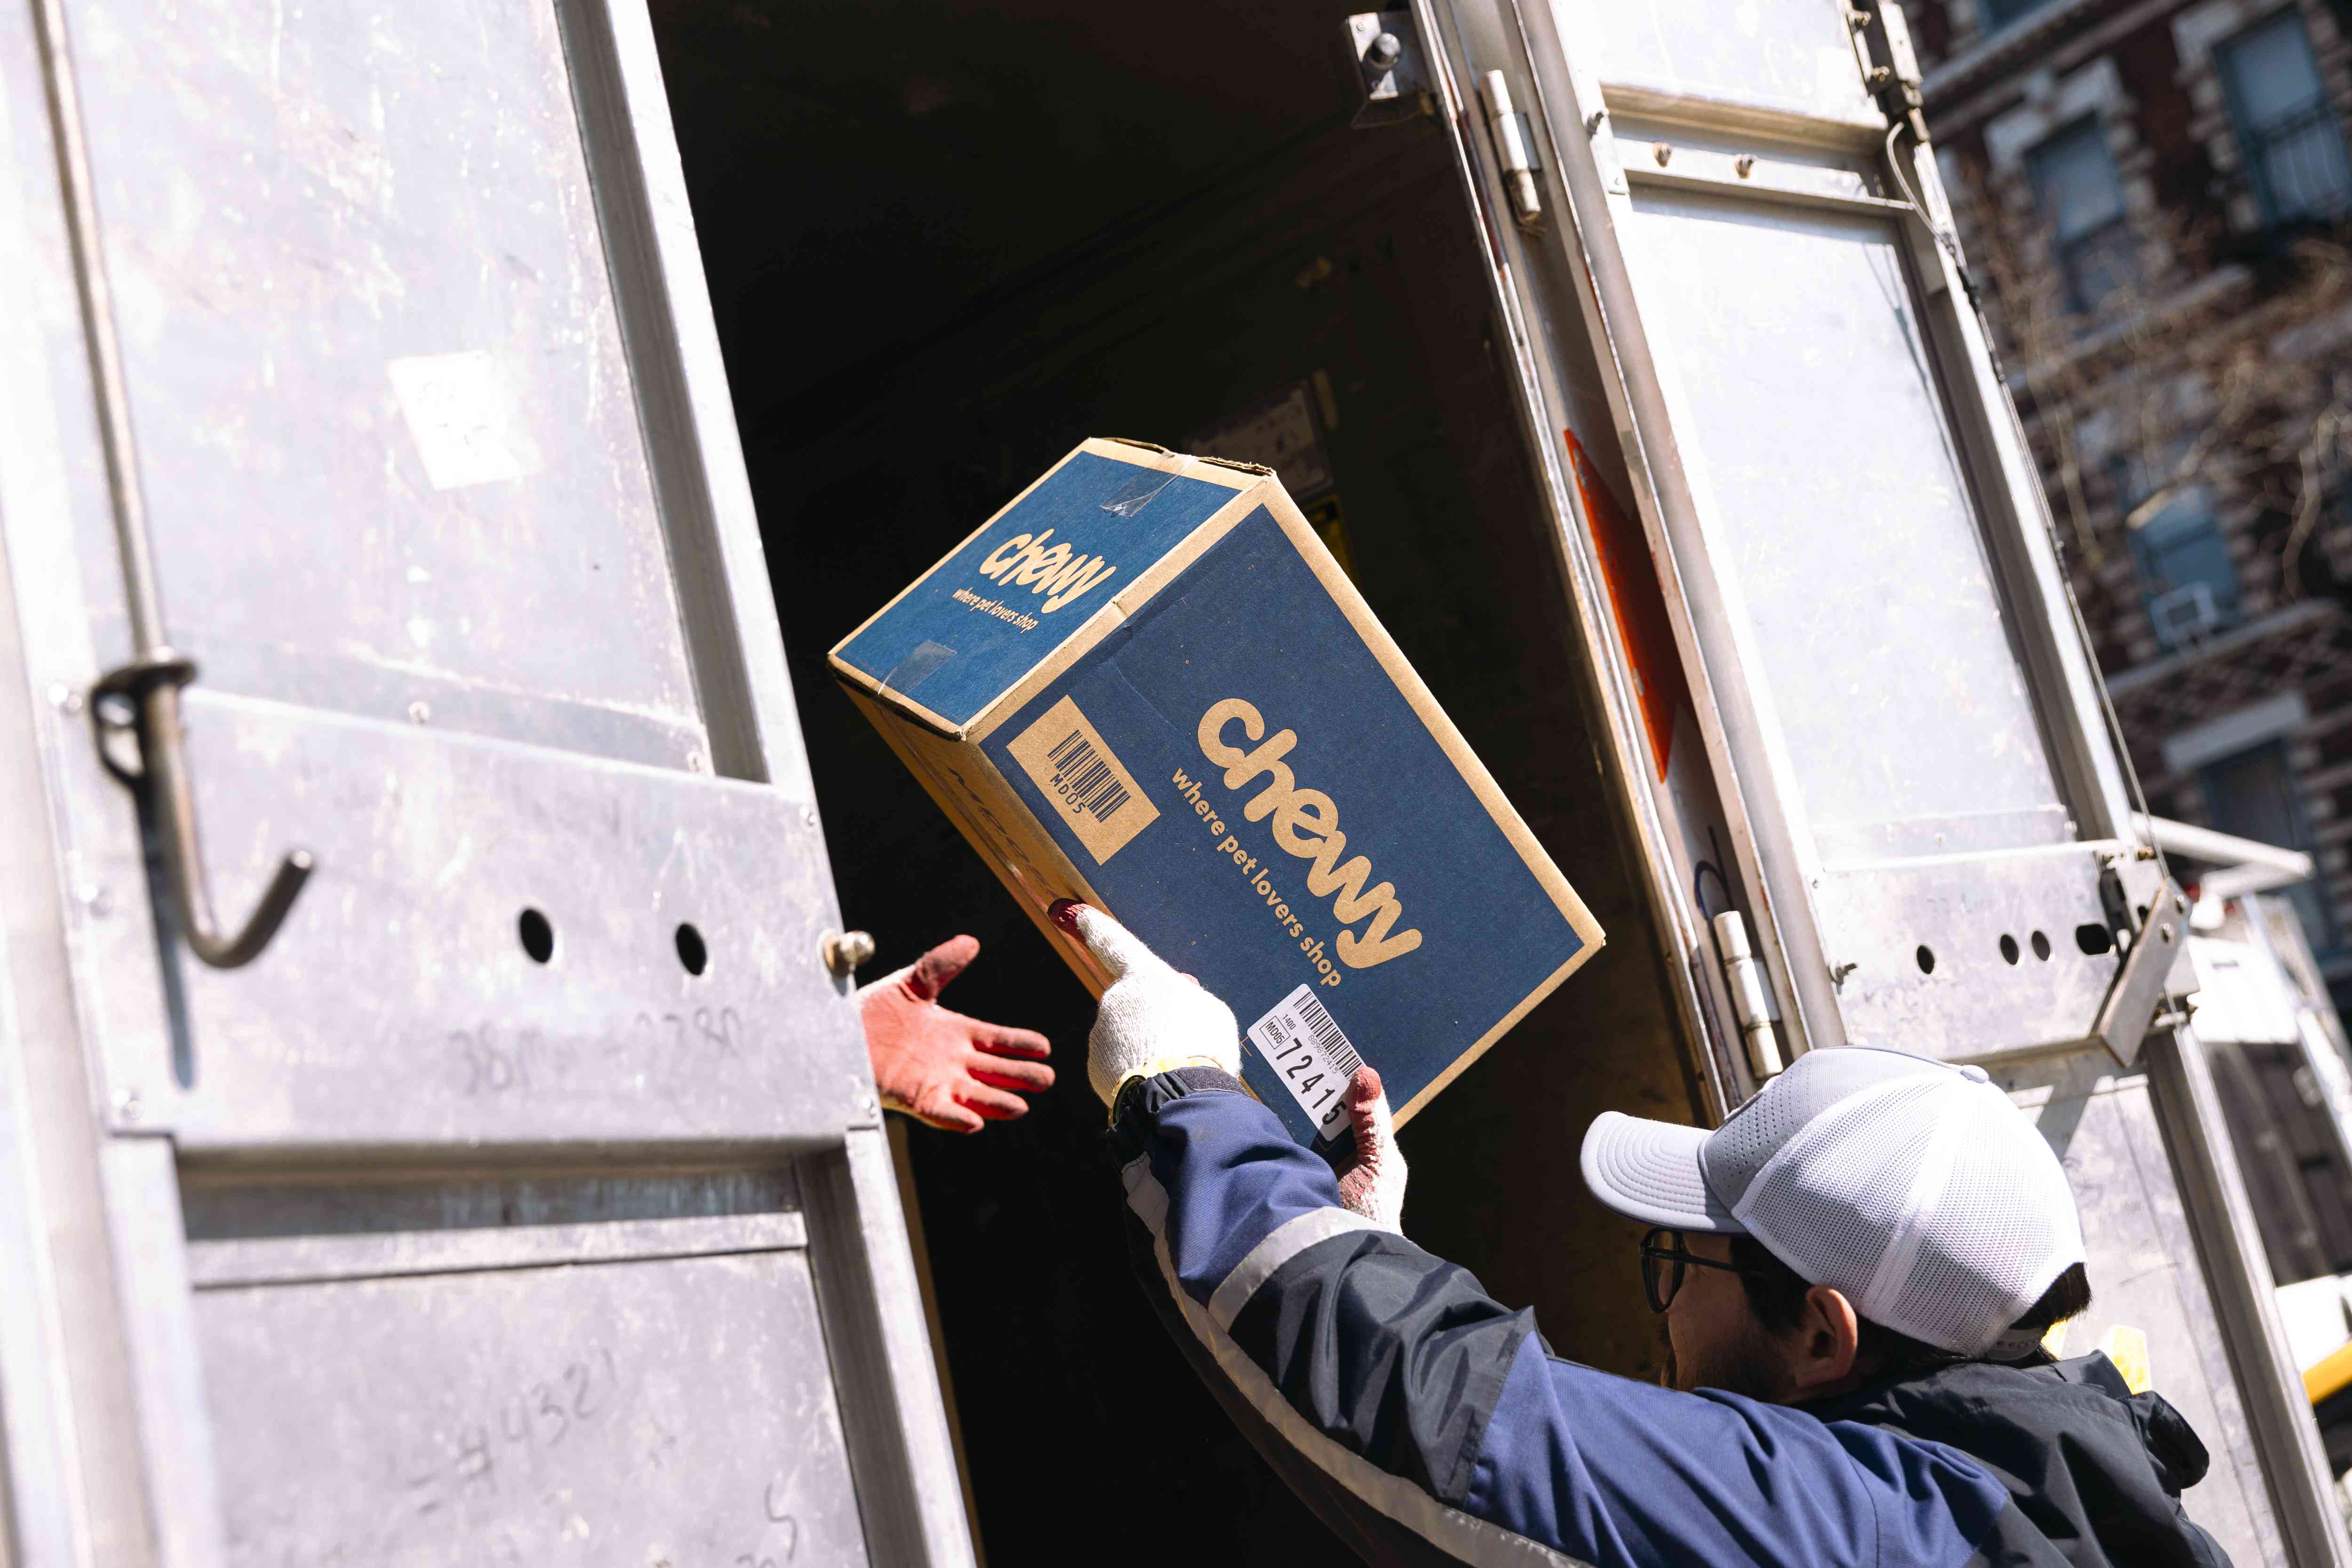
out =
<path fill-rule="evenodd" d="M 1642 193 L 1625 242 L 1813 858 L 2065 844 L 1893 228 Z"/>

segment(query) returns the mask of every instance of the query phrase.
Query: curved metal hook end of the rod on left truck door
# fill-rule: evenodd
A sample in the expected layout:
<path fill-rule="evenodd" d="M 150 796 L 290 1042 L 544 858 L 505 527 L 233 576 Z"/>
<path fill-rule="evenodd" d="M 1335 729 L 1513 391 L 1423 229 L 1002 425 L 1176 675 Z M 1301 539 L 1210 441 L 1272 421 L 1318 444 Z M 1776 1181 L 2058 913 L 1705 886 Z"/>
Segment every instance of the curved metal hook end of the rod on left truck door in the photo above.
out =
<path fill-rule="evenodd" d="M 89 722 L 99 738 L 99 759 L 125 785 L 153 790 L 160 818 L 165 872 L 172 882 L 172 910 L 179 914 L 188 950 L 214 969 L 238 969 L 254 961 L 278 926 L 285 924 L 315 860 L 296 849 L 278 863 L 278 875 L 263 889 L 261 903 L 233 936 L 221 936 L 212 912 L 212 884 L 205 877 L 205 846 L 195 832 L 195 790 L 188 776 L 186 733 L 179 722 L 179 689 L 195 679 L 195 661 L 155 649 L 108 672 L 89 691 Z M 127 712 L 125 712 L 127 710 Z M 139 741 L 139 771 L 129 771 L 108 741 L 132 731 Z"/>

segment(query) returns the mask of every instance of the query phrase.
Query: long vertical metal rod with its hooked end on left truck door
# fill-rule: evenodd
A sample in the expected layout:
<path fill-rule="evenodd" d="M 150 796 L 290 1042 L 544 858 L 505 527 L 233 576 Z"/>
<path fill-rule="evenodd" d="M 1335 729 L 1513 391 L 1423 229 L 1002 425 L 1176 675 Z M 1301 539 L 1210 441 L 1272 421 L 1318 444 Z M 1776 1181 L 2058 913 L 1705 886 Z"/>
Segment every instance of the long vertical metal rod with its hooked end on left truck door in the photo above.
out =
<path fill-rule="evenodd" d="M 42 85 L 49 96 L 56 179 L 66 197 L 73 284 L 82 306 L 89 381 L 99 404 L 99 447 L 106 456 L 106 491 L 115 515 L 115 550 L 122 557 L 122 597 L 136 649 L 132 663 L 106 675 L 89 693 L 99 759 L 122 783 L 153 790 L 165 870 L 172 882 L 172 907 L 179 912 L 179 929 L 188 947 L 214 969 L 238 969 L 278 936 L 287 910 L 294 907 L 294 896 L 310 877 L 310 851 L 296 849 L 280 860 L 278 875 L 270 877 L 270 886 L 261 893 L 245 929 L 235 936 L 221 936 L 212 919 L 205 851 L 195 837 L 195 790 L 188 778 L 188 748 L 179 722 L 179 689 L 195 679 L 195 663 L 172 651 L 162 635 L 155 541 L 148 536 L 146 498 L 139 491 L 139 449 L 132 442 L 132 404 L 122 378 L 122 350 L 115 343 L 106 259 L 99 249 L 99 205 L 89 179 L 89 148 L 82 141 L 82 108 L 73 89 L 73 56 L 66 49 L 66 9 L 61 0 L 35 0 L 33 19 L 40 35 Z M 129 708 L 129 712 L 125 715 L 120 708 Z M 108 745 L 122 731 L 136 733 L 136 771 L 125 766 Z"/>

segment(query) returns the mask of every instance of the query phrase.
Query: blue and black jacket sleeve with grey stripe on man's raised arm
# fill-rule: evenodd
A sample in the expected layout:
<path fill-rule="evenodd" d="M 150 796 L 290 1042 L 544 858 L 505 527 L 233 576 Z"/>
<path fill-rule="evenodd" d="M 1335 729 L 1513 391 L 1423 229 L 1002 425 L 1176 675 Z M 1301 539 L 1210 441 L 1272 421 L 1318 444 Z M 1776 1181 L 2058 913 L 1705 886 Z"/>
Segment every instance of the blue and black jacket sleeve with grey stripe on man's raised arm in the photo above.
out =
<path fill-rule="evenodd" d="M 1962 1568 L 2009 1502 L 1938 1443 L 1559 1361 L 1223 1072 L 1131 1086 L 1112 1147 L 1171 1331 L 1317 1512 L 1409 1537 L 1348 1530 L 1374 1561 Z"/>

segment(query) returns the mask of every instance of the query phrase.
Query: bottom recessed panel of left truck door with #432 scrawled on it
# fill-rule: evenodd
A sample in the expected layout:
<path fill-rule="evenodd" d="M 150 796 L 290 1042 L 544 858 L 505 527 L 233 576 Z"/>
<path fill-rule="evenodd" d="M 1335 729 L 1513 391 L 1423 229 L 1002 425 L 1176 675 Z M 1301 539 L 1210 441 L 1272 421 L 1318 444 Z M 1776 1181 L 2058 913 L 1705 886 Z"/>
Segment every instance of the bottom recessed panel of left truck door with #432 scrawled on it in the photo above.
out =
<path fill-rule="evenodd" d="M 228 1563 L 868 1561 L 800 1251 L 216 1288 L 195 1324 Z"/>

